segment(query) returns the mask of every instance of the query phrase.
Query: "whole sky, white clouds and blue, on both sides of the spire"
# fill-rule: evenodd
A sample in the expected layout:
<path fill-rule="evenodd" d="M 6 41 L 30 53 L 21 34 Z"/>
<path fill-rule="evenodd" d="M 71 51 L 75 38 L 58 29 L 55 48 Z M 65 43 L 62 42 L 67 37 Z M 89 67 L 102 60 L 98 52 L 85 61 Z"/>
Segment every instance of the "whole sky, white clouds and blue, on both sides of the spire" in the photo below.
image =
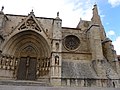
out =
<path fill-rule="evenodd" d="M 0 0 L 5 14 L 28 15 L 33 9 L 37 17 L 55 18 L 59 11 L 62 26 L 73 28 L 80 18 L 91 20 L 94 4 L 98 6 L 107 37 L 120 55 L 120 0 Z"/>

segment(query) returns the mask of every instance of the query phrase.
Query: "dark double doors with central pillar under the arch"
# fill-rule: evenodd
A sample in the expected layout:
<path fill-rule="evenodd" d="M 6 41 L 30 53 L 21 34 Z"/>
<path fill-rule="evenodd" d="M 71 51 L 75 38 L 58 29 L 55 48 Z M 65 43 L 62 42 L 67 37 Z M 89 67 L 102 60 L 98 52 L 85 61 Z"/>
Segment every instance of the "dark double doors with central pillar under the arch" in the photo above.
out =
<path fill-rule="evenodd" d="M 17 79 L 18 80 L 36 80 L 36 64 L 37 60 L 35 57 L 21 57 Z"/>

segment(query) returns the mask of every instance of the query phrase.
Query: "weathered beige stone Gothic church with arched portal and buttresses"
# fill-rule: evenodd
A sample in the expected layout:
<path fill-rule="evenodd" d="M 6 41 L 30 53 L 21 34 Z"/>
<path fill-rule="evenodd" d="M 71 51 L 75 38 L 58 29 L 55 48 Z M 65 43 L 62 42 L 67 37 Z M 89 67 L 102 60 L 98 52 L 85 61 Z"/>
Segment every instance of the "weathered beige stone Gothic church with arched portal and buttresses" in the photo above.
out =
<path fill-rule="evenodd" d="M 51 86 L 120 87 L 120 64 L 93 8 L 91 21 L 76 28 L 62 20 L 0 11 L 0 81 Z"/>

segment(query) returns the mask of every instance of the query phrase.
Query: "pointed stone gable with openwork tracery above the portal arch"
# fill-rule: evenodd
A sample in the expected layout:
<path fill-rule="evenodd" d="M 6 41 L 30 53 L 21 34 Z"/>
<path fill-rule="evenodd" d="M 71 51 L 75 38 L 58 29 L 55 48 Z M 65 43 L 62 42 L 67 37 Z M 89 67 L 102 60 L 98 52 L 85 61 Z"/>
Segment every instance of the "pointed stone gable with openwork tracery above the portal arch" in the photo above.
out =
<path fill-rule="evenodd" d="M 22 21 L 9 33 L 8 36 L 15 35 L 16 33 L 25 30 L 36 31 L 42 36 L 49 38 L 48 34 L 45 31 L 45 28 L 43 27 L 41 22 L 36 19 L 33 11 L 30 12 L 27 17 L 22 19 Z"/>

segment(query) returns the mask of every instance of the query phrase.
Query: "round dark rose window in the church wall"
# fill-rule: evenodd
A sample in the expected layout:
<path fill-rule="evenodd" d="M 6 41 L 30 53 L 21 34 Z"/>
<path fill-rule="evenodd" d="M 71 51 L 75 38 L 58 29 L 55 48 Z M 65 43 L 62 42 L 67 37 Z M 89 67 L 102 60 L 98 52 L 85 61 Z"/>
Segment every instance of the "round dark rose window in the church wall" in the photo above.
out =
<path fill-rule="evenodd" d="M 79 38 L 74 35 L 66 36 L 64 39 L 64 45 L 69 50 L 77 49 L 79 44 L 80 44 Z"/>

